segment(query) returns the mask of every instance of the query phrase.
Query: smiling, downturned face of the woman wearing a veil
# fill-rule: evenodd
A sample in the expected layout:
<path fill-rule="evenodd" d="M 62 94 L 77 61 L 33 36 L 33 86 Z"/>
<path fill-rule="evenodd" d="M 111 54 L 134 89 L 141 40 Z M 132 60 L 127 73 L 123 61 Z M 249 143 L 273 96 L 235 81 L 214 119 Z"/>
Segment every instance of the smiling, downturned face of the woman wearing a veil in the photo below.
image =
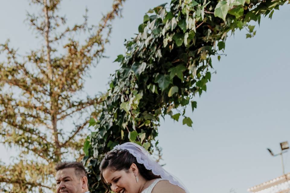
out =
<path fill-rule="evenodd" d="M 140 189 L 132 168 L 129 171 L 113 171 L 107 168 L 103 171 L 103 177 L 112 191 L 117 193 L 137 193 Z"/>

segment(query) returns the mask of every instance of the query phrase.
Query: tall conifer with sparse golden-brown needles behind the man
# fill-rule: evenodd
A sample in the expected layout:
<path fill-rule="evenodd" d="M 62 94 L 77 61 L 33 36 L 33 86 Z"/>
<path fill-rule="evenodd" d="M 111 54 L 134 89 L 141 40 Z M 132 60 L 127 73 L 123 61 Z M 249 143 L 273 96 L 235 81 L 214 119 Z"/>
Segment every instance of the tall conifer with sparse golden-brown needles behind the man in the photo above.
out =
<path fill-rule="evenodd" d="M 82 100 L 76 94 L 92 63 L 103 56 L 111 21 L 120 15 L 124 0 L 114 0 L 99 25 L 89 26 L 85 14 L 82 24 L 63 31 L 66 18 L 58 14 L 60 2 L 31 0 L 42 8 L 38 15 L 27 14 L 42 40 L 39 49 L 21 59 L 9 41 L 0 45 L 7 58 L 0 63 L 0 140 L 19 150 L 14 163 L 0 163 L 3 192 L 52 192 L 54 165 L 70 157 L 82 159 L 89 112 L 102 102 L 102 96 Z M 82 31 L 89 34 L 85 42 L 74 36 Z M 67 134 L 60 123 L 72 116 L 78 121 Z"/>

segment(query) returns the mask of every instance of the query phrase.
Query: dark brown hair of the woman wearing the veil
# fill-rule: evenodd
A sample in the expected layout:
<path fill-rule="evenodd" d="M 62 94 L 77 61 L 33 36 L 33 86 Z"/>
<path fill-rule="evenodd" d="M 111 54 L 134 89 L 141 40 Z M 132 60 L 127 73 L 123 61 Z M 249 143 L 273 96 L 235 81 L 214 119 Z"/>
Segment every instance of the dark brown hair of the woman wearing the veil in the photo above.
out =
<path fill-rule="evenodd" d="M 152 179 L 157 179 L 157 178 L 161 178 L 160 176 L 156 176 L 152 173 L 151 170 L 148 170 L 145 168 L 145 166 L 143 164 L 140 164 L 137 162 L 136 158 L 129 153 L 126 150 L 115 150 L 115 151 L 110 151 L 108 153 L 106 153 L 105 157 L 103 158 L 103 160 L 101 161 L 100 164 L 100 171 L 101 171 L 101 180 L 105 185 L 105 188 L 107 188 L 107 192 L 109 192 L 108 190 L 108 185 L 105 182 L 105 179 L 103 177 L 103 171 L 107 168 L 113 170 L 113 171 L 120 171 L 120 170 L 125 170 L 126 172 L 129 171 L 130 166 L 135 163 L 140 175 L 146 179 L 146 180 L 152 180 Z"/>

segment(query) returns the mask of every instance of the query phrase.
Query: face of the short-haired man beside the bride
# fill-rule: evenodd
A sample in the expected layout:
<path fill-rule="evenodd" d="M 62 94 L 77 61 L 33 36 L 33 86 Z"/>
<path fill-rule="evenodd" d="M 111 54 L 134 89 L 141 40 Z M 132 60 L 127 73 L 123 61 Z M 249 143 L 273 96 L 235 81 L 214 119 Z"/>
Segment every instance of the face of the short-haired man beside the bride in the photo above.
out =
<path fill-rule="evenodd" d="M 65 168 L 56 172 L 57 193 L 82 193 L 82 178 L 76 176 L 74 168 Z"/>

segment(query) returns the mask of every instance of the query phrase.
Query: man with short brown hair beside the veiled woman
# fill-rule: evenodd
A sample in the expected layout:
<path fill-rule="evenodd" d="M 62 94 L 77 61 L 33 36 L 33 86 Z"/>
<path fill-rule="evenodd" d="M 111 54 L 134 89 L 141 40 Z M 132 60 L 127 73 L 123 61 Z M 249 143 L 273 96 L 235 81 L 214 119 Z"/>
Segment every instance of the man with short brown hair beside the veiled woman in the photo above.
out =
<path fill-rule="evenodd" d="M 89 193 L 85 167 L 79 162 L 63 162 L 56 169 L 56 193 Z"/>

